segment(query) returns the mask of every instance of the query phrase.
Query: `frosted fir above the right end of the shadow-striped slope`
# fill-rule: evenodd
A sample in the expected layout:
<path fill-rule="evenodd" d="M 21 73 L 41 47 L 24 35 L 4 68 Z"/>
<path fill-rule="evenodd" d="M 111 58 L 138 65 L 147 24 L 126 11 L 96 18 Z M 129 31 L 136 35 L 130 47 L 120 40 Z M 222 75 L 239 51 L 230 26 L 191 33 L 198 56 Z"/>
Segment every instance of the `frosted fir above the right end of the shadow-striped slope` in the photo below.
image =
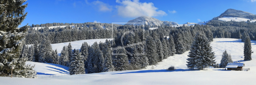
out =
<path fill-rule="evenodd" d="M 60 64 L 63 66 L 69 65 L 69 58 L 68 58 L 68 47 L 63 46 L 62 51 L 60 53 Z"/>

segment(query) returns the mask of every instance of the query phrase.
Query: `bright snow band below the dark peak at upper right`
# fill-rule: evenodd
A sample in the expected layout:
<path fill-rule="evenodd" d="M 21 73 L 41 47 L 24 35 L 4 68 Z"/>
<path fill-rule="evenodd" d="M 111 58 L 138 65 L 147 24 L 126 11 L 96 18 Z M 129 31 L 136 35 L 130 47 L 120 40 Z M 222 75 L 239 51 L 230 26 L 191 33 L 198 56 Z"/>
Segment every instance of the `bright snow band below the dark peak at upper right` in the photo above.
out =
<path fill-rule="evenodd" d="M 223 17 L 223 18 L 219 18 L 219 20 L 222 20 L 222 21 L 237 21 L 237 22 L 241 22 L 241 21 L 245 21 L 247 22 L 247 20 L 250 20 L 248 18 L 237 18 L 237 17 Z M 250 22 L 255 22 L 256 20 L 252 20 Z"/>

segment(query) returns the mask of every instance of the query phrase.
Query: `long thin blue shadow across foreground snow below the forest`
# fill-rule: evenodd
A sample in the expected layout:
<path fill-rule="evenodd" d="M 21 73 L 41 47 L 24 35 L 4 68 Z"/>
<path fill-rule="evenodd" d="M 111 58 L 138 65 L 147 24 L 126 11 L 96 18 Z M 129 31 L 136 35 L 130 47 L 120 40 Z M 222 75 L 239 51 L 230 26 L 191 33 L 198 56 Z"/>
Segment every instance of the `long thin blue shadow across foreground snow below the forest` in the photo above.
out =
<path fill-rule="evenodd" d="M 191 69 L 176 69 L 174 71 L 168 71 L 166 69 L 161 70 L 141 70 L 141 71 L 134 71 L 134 72 L 126 72 L 126 73 L 117 73 L 117 74 L 128 74 L 128 73 L 152 73 L 152 72 L 178 72 L 178 71 L 199 71 L 199 70 L 191 70 Z"/>

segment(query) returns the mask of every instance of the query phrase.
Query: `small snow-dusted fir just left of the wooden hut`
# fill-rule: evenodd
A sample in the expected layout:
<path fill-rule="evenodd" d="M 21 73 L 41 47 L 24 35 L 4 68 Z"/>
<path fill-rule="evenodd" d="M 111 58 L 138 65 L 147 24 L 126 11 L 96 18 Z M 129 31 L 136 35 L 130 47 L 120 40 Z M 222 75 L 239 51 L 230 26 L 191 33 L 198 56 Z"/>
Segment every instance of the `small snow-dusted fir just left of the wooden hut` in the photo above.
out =
<path fill-rule="evenodd" d="M 230 55 L 228 55 L 227 51 L 225 50 L 222 54 L 221 60 L 220 60 L 220 67 L 226 67 L 228 63 L 232 63 L 232 58 Z"/>

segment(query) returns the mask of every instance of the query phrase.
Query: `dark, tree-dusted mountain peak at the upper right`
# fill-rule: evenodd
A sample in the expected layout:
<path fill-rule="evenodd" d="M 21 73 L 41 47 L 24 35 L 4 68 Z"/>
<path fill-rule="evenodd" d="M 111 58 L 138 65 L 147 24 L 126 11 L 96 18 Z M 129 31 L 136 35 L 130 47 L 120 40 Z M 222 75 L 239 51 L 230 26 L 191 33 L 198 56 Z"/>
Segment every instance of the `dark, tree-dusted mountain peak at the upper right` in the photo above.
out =
<path fill-rule="evenodd" d="M 248 18 L 248 19 L 256 19 L 256 15 L 245 12 L 245 11 L 240 11 L 240 10 L 235 10 L 235 9 L 228 9 L 224 13 L 220 14 L 219 18 L 223 17 L 238 17 L 238 18 Z"/>

